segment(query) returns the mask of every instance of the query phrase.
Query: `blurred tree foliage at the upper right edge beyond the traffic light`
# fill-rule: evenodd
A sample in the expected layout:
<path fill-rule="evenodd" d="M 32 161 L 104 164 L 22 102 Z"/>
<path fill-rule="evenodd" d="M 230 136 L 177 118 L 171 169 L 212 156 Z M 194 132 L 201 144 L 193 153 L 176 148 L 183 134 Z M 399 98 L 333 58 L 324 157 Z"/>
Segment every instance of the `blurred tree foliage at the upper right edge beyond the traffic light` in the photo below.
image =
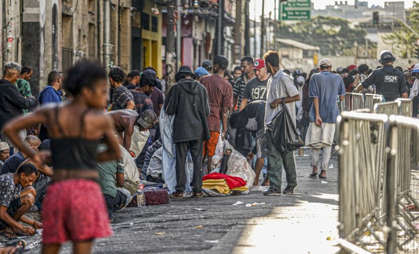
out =
<path fill-rule="evenodd" d="M 419 2 L 413 2 L 413 9 L 407 17 L 412 23 L 411 28 L 419 33 Z M 419 37 L 415 35 L 406 25 L 401 24 L 401 28 L 384 40 L 393 46 L 393 51 L 402 57 L 409 57 L 415 54 L 417 48 L 417 40 Z"/>

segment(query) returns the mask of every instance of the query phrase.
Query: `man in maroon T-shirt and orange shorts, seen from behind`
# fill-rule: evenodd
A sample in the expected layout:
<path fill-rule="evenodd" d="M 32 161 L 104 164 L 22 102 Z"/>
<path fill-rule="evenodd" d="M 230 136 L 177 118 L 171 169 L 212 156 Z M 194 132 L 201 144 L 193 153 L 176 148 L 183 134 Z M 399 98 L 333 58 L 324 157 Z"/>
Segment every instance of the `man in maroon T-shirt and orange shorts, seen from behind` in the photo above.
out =
<path fill-rule="evenodd" d="M 222 136 L 227 134 L 227 120 L 229 108 L 233 107 L 233 88 L 224 79 L 225 69 L 229 66 L 229 60 L 223 55 L 217 55 L 213 61 L 213 72 L 210 76 L 201 79 L 201 83 L 207 88 L 211 114 L 208 116 L 208 127 L 211 138 L 204 142 L 204 159 L 208 156 L 208 172 L 211 171 L 212 156 L 217 147 L 222 122 Z M 221 119 L 222 117 L 222 119 Z"/>

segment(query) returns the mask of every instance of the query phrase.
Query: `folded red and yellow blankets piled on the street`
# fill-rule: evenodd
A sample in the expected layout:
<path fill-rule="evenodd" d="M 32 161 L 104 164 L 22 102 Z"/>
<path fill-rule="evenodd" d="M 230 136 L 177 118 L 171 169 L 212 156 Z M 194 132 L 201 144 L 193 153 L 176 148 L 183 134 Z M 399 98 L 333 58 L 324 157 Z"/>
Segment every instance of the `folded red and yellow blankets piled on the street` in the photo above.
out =
<path fill-rule="evenodd" d="M 208 197 L 247 195 L 246 181 L 237 176 L 211 173 L 203 177 L 202 191 Z"/>

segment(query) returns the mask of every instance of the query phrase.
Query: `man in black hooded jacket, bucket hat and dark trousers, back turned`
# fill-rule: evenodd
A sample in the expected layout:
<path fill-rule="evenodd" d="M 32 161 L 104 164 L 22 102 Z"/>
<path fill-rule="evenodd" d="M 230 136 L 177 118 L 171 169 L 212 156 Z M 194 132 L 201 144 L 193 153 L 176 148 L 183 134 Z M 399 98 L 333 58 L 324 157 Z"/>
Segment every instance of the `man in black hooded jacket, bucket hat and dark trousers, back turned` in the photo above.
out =
<path fill-rule="evenodd" d="M 210 138 L 207 123 L 210 114 L 208 93 L 195 80 L 195 74 L 187 66 L 181 66 L 175 78 L 177 83 L 170 88 L 164 106 L 168 115 L 175 115 L 173 142 L 176 144 L 176 192 L 171 197 L 183 198 L 186 184 L 185 163 L 189 150 L 194 162 L 192 185 L 195 197 L 199 198 L 203 196 L 203 142 Z"/>

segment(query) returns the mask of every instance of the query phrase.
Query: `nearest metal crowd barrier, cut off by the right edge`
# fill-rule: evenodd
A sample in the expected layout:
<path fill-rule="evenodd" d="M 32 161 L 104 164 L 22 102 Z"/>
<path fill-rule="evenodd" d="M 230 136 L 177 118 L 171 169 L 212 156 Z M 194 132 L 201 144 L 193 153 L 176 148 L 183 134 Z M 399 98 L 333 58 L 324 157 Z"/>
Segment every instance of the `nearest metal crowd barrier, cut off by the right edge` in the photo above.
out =
<path fill-rule="evenodd" d="M 387 253 L 396 251 L 419 252 L 417 213 L 419 203 L 411 194 L 411 158 L 418 162 L 419 153 L 410 149 L 410 143 L 418 144 L 419 119 L 395 116 L 389 117 L 388 159 L 383 187 L 386 194 L 386 226 L 390 229 L 386 246 Z M 412 240 L 414 240 L 411 243 Z M 412 253 L 413 253 L 412 252 Z"/>

